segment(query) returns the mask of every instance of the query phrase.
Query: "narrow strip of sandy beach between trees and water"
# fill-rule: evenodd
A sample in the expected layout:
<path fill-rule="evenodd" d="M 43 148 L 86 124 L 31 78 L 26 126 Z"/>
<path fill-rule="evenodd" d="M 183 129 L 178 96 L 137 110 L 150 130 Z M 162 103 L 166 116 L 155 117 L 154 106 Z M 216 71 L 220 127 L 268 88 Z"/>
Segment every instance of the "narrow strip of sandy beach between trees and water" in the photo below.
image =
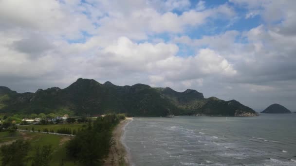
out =
<path fill-rule="evenodd" d="M 132 120 L 132 117 L 127 117 L 121 121 L 113 131 L 113 139 L 115 144 L 111 147 L 109 156 L 104 163 L 104 166 L 129 166 L 129 156 L 124 145 L 121 143 L 121 136 L 124 133 L 123 128 Z"/>

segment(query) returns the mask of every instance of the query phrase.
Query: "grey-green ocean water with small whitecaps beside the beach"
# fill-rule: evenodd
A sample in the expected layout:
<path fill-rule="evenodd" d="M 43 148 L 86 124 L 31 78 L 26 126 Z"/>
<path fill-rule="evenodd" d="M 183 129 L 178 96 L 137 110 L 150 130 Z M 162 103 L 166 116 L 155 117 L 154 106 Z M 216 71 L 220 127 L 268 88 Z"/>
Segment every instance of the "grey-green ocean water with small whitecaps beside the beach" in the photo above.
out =
<path fill-rule="evenodd" d="M 296 114 L 137 117 L 122 141 L 132 166 L 296 166 Z"/>

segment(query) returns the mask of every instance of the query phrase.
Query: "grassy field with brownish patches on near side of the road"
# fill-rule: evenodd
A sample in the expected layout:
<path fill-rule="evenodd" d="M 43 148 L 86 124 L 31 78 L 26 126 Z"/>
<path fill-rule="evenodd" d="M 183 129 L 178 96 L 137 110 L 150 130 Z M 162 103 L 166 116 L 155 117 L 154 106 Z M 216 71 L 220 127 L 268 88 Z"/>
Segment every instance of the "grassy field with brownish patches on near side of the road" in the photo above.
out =
<path fill-rule="evenodd" d="M 5 138 L 5 139 L 4 139 Z M 16 139 L 26 139 L 30 141 L 31 148 L 28 152 L 28 163 L 27 166 L 31 166 L 32 158 L 35 154 L 35 149 L 38 146 L 49 145 L 53 147 L 51 166 L 59 166 L 63 161 L 64 166 L 80 166 L 79 163 L 74 163 L 72 159 L 67 158 L 65 145 L 70 136 L 60 136 L 46 133 L 32 133 L 32 132 L 16 132 L 15 135 L 8 132 L 0 133 L 1 143 L 6 141 L 12 141 Z M 1 144 L 0 144 L 1 145 Z M 1 162 L 0 162 L 1 163 Z"/>

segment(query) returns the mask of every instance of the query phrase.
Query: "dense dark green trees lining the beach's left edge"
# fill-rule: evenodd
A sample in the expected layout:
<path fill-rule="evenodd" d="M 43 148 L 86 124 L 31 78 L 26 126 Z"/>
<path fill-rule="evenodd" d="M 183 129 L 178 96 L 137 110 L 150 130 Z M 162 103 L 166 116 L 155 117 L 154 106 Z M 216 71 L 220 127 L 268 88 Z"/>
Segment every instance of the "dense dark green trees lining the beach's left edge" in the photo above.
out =
<path fill-rule="evenodd" d="M 119 122 L 115 114 L 98 117 L 85 130 L 76 133 L 66 145 L 67 154 L 85 166 L 96 166 L 103 162 L 113 144 L 112 128 Z"/>

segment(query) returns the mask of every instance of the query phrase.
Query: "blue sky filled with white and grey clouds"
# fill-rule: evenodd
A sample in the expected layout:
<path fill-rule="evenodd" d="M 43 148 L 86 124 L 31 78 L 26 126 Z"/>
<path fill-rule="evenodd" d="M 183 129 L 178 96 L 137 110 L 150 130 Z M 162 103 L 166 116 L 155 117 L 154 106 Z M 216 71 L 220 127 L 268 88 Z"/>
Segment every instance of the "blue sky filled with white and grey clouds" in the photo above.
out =
<path fill-rule="evenodd" d="M 0 0 L 0 85 L 145 83 L 296 111 L 296 0 Z"/>

